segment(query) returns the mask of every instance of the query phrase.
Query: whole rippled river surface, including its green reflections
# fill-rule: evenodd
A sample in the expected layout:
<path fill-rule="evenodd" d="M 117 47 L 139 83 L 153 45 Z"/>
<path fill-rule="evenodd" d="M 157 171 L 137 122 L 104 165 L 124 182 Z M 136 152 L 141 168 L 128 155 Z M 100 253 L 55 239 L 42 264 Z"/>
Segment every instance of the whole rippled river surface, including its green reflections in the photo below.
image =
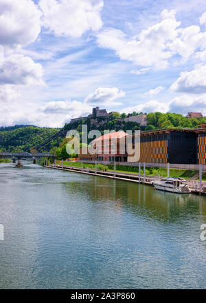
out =
<path fill-rule="evenodd" d="M 206 197 L 0 164 L 1 289 L 206 288 Z"/>

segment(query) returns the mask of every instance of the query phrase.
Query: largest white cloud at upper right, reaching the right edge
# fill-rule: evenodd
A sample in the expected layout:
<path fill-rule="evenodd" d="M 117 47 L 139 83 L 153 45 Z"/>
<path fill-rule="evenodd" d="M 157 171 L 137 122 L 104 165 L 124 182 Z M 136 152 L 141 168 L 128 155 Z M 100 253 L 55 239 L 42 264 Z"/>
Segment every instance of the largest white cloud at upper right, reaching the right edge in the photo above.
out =
<path fill-rule="evenodd" d="M 178 54 L 186 61 L 196 51 L 205 50 L 206 32 L 198 25 L 181 28 L 176 21 L 175 10 L 163 10 L 161 22 L 142 30 L 135 37 L 126 35 L 122 30 L 106 28 L 97 34 L 98 44 L 102 48 L 114 50 L 122 60 L 132 61 L 144 67 L 163 70 L 168 59 Z M 201 22 L 205 14 L 201 17 Z"/>

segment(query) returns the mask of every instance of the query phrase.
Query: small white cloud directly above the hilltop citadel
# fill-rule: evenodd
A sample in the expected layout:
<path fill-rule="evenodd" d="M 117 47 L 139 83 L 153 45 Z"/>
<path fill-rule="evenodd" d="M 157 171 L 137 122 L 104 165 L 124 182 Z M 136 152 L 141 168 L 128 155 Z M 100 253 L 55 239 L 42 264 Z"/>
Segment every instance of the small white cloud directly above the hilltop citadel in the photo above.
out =
<path fill-rule="evenodd" d="M 99 87 L 93 94 L 89 94 L 85 98 L 84 103 L 92 105 L 119 105 L 122 104 L 116 101 L 117 98 L 124 97 L 125 92 L 123 90 L 118 90 L 116 87 Z"/>

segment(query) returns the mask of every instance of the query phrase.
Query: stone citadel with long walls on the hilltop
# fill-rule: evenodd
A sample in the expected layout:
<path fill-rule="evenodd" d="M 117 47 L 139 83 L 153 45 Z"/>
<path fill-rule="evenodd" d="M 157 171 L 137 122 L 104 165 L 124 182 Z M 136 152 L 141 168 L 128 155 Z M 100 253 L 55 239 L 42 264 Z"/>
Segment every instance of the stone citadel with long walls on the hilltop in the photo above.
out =
<path fill-rule="evenodd" d="M 88 118 L 98 118 L 98 117 L 105 117 L 109 119 L 110 114 L 115 114 L 116 112 L 106 112 L 106 109 L 100 109 L 98 106 L 92 109 L 92 114 L 88 115 L 87 117 L 79 117 L 71 119 L 70 123 L 75 123 L 84 119 Z M 128 118 L 117 118 L 118 121 L 124 122 L 136 122 L 139 123 L 141 126 L 147 126 L 147 118 L 144 114 L 139 114 L 137 116 L 129 116 Z"/>

